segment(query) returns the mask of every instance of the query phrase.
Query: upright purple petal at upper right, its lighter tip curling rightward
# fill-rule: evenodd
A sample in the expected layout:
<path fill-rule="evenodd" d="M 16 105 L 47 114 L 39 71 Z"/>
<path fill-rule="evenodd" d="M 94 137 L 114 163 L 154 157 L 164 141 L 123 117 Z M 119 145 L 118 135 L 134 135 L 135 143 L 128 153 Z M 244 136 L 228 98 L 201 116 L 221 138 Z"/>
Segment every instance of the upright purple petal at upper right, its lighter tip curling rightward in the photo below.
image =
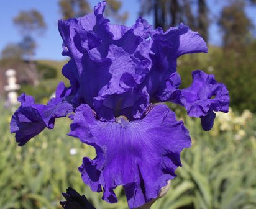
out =
<path fill-rule="evenodd" d="M 179 56 L 185 53 L 206 53 L 208 48 L 197 32 L 183 24 L 178 28 L 171 27 L 167 32 L 163 32 L 161 28 L 151 30 L 150 35 L 152 40 L 144 40 L 135 55 L 150 61 L 150 71 L 144 84 L 149 95 L 154 96 L 176 72 L 176 60 Z"/>

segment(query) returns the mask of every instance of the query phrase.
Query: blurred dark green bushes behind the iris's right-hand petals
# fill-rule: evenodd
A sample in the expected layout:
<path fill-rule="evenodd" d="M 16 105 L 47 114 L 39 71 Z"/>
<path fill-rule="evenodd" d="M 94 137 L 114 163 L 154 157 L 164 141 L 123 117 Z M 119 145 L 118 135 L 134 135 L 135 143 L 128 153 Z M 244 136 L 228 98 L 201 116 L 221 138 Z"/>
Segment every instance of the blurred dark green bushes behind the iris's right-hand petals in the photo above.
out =
<path fill-rule="evenodd" d="M 218 82 L 223 82 L 229 90 L 230 106 L 242 112 L 249 109 L 256 112 L 256 41 L 245 46 L 242 52 L 223 50 L 210 46 L 208 54 L 192 54 L 178 59 L 178 73 L 181 88 L 190 86 L 191 72 L 201 69 L 214 74 Z"/>

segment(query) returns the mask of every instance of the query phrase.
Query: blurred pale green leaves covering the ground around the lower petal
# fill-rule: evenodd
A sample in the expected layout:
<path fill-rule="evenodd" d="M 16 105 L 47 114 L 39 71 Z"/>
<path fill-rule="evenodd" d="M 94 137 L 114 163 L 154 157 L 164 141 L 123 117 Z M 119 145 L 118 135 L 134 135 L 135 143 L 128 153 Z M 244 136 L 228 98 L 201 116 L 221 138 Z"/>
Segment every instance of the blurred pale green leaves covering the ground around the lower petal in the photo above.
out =
<path fill-rule="evenodd" d="M 68 118 L 58 119 L 54 130 L 43 131 L 21 148 L 9 133 L 12 112 L 2 106 L 1 209 L 61 208 L 58 204 L 63 200 L 61 192 L 68 186 L 85 194 L 97 209 L 127 208 L 121 188 L 116 189 L 119 202 L 111 205 L 101 200 L 101 193 L 91 192 L 83 184 L 77 167 L 83 156 L 94 158 L 95 153 L 92 147 L 66 136 Z M 217 117 L 209 132 L 199 128 L 199 120 L 183 118 L 193 145 L 183 151 L 183 167 L 176 171 L 178 177 L 152 209 L 256 207 L 256 117 L 248 112 L 244 115 L 239 117 L 231 112 L 226 119 Z M 70 154 L 71 148 L 76 149 L 75 155 Z"/>

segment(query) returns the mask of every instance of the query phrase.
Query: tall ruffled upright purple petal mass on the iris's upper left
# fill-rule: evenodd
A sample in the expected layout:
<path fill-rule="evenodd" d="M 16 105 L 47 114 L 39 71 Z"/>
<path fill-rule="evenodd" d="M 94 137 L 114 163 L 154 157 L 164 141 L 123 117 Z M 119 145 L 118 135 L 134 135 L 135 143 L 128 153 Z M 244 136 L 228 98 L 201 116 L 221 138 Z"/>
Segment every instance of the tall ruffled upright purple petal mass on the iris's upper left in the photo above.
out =
<path fill-rule="evenodd" d="M 132 27 L 110 25 L 109 20 L 103 17 L 105 6 L 106 2 L 102 2 L 94 7 L 94 18 L 90 25 L 85 21 L 91 16 L 58 22 L 64 46 L 71 56 L 62 72 L 70 79 L 76 94 L 75 106 L 80 105 L 79 101 L 88 104 L 102 120 L 112 120 L 120 107 L 124 109 L 121 109 L 122 112 L 138 107 L 138 110 L 132 110 L 134 117 L 138 118 L 145 109 L 142 109 L 142 105 L 133 107 L 130 101 L 137 102 L 138 97 L 142 96 L 137 92 L 145 88 L 138 85 L 149 72 L 149 62 L 140 60 L 133 53 L 139 43 L 149 38 L 152 25 L 141 17 Z M 110 101 L 110 97 L 119 99 Z M 149 99 L 144 99 L 144 103 L 146 100 Z"/>

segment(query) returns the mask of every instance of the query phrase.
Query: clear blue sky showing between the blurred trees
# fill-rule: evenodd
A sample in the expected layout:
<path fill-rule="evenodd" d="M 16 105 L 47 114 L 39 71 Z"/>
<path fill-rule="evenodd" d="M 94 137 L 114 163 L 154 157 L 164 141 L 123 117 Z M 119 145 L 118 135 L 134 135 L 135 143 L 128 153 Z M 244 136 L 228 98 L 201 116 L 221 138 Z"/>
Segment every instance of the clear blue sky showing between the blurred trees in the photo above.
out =
<path fill-rule="evenodd" d="M 100 0 L 89 0 L 91 7 L 96 5 Z M 209 43 L 213 45 L 221 44 L 221 34 L 214 21 L 217 19 L 221 7 L 227 1 L 221 0 L 208 0 L 208 6 L 211 9 L 211 20 L 213 24 L 209 29 Z M 50 60 L 63 60 L 60 54 L 62 51 L 62 38 L 58 33 L 57 22 L 61 14 L 58 8 L 58 0 L 1 0 L 0 1 L 0 51 L 6 46 L 7 43 L 17 43 L 21 40 L 21 36 L 16 27 L 12 23 L 12 19 L 19 14 L 19 11 L 37 9 L 43 14 L 47 24 L 47 31 L 45 35 L 37 38 L 38 48 L 35 55 L 37 59 L 50 59 Z M 138 0 L 123 0 L 122 11 L 129 12 L 129 19 L 126 25 L 133 25 L 139 16 L 139 1 Z M 246 9 L 247 15 L 253 20 L 256 25 L 256 6 L 248 7 Z M 152 17 L 144 17 L 153 24 Z"/>

